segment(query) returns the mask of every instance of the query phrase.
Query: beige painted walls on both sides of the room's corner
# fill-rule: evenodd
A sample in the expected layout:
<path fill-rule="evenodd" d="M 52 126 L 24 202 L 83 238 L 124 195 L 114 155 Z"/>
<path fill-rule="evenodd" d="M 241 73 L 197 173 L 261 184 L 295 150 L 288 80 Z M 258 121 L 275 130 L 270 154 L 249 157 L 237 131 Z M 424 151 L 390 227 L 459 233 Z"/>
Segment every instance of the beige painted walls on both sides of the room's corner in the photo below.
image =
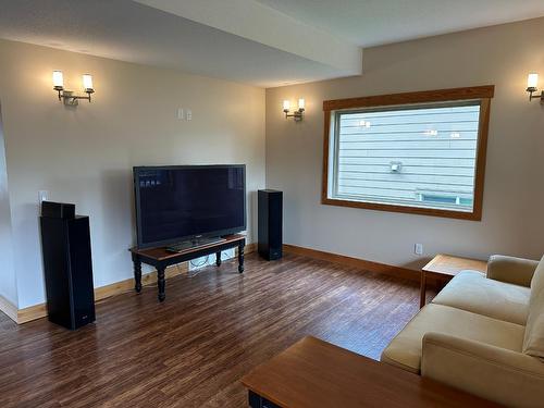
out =
<path fill-rule="evenodd" d="M 539 18 L 372 48 L 362 76 L 268 89 L 264 113 L 262 89 L 0 40 L 10 186 L 2 214 L 11 207 L 11 220 L 1 221 L 11 222 L 18 307 L 45 299 L 39 189 L 91 217 L 95 286 L 131 277 L 131 170 L 139 164 L 246 163 L 249 240 L 256 239 L 255 190 L 267 184 L 285 191 L 289 244 L 410 267 L 440 251 L 540 257 L 544 109 L 529 103 L 523 89 L 528 72 L 544 74 L 543 46 Z M 59 103 L 54 69 L 75 90 L 79 75 L 92 73 L 94 102 Z M 481 222 L 320 205 L 323 100 L 484 84 L 496 91 Z M 296 124 L 284 119 L 281 102 L 299 96 L 307 114 Z M 178 107 L 191 109 L 193 121 L 177 120 Z M 424 257 L 413 255 L 415 243 L 424 244 Z"/>

